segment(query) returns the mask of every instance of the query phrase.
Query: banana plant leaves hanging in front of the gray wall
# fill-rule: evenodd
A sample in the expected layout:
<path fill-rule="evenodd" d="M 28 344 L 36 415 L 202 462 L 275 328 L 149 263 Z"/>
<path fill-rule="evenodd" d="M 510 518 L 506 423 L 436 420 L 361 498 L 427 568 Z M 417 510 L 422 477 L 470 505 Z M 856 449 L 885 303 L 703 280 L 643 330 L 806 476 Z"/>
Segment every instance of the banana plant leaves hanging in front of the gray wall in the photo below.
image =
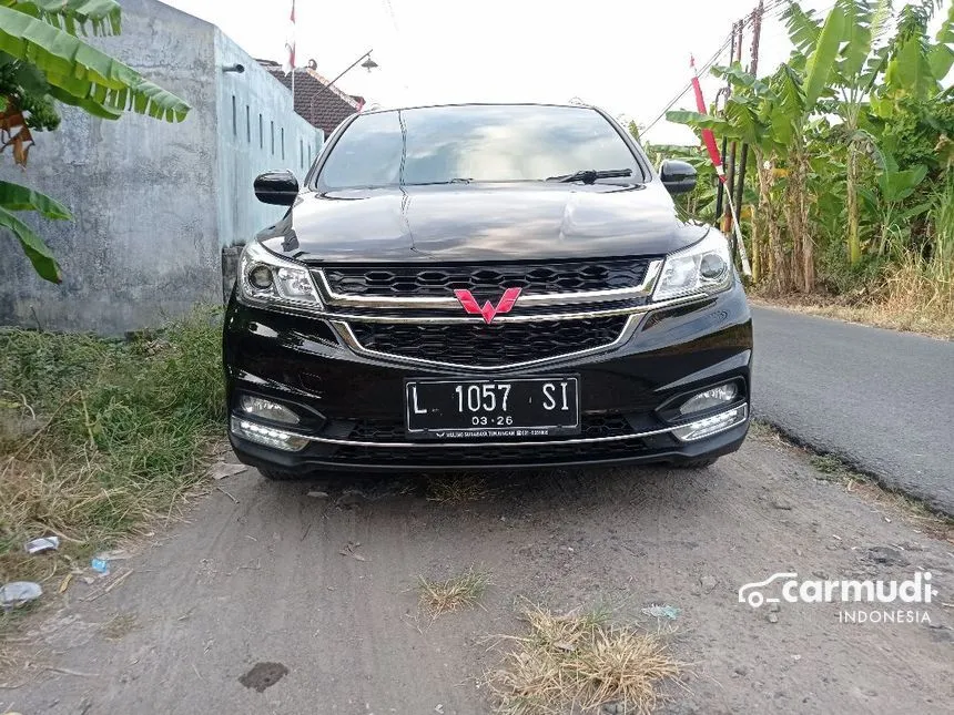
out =
<path fill-rule="evenodd" d="M 11 149 L 26 165 L 31 130 L 59 124 L 55 102 L 106 120 L 132 111 L 181 122 L 190 106 L 119 60 L 83 42 L 80 34 L 118 34 L 114 0 L 0 0 L 0 152 Z M 55 257 L 14 212 L 70 218 L 55 200 L 19 184 L 0 182 L 0 227 L 19 241 L 37 273 L 61 280 Z"/>

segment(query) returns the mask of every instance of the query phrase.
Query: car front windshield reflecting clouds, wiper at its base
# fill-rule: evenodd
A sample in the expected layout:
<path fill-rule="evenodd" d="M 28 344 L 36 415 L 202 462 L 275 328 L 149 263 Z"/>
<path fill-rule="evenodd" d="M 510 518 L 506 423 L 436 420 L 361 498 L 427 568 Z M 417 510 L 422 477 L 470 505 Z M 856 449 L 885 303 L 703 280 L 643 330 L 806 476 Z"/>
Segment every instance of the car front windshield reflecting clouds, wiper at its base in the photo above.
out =
<path fill-rule="evenodd" d="M 619 132 L 582 106 L 430 106 L 358 116 L 331 149 L 322 192 L 415 184 L 546 181 L 631 170 L 599 183 L 645 181 Z"/>

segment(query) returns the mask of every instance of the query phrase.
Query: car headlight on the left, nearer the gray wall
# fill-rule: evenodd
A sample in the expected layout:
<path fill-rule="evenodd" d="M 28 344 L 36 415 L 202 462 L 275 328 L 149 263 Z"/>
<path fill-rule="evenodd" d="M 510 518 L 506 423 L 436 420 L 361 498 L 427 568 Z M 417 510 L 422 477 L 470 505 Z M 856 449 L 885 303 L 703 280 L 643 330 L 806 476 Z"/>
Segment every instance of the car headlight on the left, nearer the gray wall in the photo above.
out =
<path fill-rule="evenodd" d="M 253 239 L 238 259 L 238 289 L 250 303 L 319 308 L 321 300 L 308 269 L 280 258 Z"/>

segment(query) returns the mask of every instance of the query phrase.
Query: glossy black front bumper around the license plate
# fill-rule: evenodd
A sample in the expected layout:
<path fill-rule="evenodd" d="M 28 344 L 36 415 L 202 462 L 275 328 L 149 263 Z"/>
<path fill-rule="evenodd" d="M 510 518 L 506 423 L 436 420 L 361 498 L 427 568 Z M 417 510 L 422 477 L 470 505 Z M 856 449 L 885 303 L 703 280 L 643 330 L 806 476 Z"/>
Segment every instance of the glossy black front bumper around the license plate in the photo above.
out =
<path fill-rule="evenodd" d="M 627 340 L 611 349 L 548 360 L 521 369 L 465 371 L 417 367 L 359 355 L 316 317 L 286 315 L 241 304 L 226 313 L 224 365 L 230 413 L 242 394 L 288 405 L 300 425 L 264 425 L 304 438 L 285 451 L 230 430 L 245 463 L 283 471 L 417 471 L 514 469 L 684 462 L 735 451 L 748 431 L 752 326 L 738 284 L 714 297 L 649 311 Z M 572 437 L 473 442 L 408 440 L 404 431 L 406 378 L 518 378 L 574 374 L 580 379 L 582 433 Z M 689 418 L 667 408 L 709 387 L 734 381 L 738 399 Z M 734 426 L 682 441 L 679 426 L 741 408 Z"/>

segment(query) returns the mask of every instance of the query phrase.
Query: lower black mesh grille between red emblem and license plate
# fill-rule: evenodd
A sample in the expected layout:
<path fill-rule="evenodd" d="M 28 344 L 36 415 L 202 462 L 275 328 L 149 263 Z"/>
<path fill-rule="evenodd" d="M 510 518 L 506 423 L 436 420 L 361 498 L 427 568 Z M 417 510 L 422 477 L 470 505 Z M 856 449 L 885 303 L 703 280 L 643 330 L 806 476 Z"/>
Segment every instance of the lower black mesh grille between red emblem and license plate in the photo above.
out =
<path fill-rule="evenodd" d="M 501 366 L 616 341 L 627 316 L 530 323 L 351 323 L 365 349 L 455 365 Z"/>

